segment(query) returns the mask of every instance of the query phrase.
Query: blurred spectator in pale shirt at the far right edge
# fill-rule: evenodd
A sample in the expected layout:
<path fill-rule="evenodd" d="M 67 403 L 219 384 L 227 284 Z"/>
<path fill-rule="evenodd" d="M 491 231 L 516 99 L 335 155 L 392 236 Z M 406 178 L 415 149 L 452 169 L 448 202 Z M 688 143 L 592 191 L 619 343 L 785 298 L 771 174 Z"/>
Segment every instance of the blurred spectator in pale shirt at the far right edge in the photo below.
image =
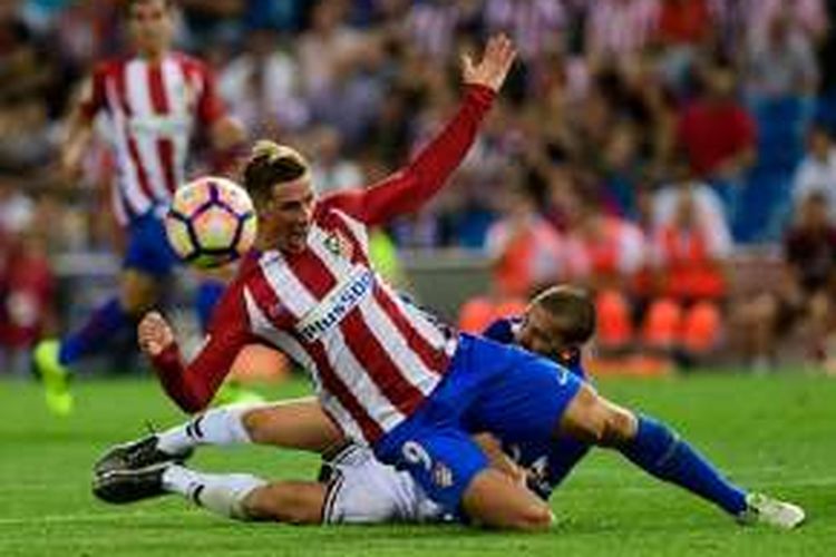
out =
<path fill-rule="evenodd" d="M 820 125 L 810 128 L 807 155 L 793 176 L 794 205 L 800 206 L 814 193 L 827 201 L 828 214 L 836 219 L 836 152 L 829 131 Z"/>

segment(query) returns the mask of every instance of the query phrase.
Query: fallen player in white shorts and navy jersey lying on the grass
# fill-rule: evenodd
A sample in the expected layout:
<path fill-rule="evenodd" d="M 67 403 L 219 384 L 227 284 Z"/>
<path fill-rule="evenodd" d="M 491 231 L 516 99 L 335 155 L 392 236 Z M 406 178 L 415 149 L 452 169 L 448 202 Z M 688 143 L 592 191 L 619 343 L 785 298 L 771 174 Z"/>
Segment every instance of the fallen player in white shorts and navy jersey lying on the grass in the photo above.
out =
<path fill-rule="evenodd" d="M 484 335 L 503 344 L 517 344 L 546 356 L 585 380 L 582 350 L 595 331 L 595 307 L 590 297 L 570 286 L 538 294 L 525 312 L 495 321 Z M 292 524 L 427 522 L 455 518 L 407 472 L 379 462 L 372 451 L 357 444 L 320 446 L 312 431 L 339 436 L 336 426 L 313 399 L 251 407 L 223 407 L 193 420 L 109 450 L 96 465 L 96 495 L 109 502 L 132 502 L 163 494 L 178 494 L 210 511 L 241 520 Z M 591 446 L 571 437 L 554 442 L 502 443 L 489 434 L 476 438 L 492 466 L 525 485 L 543 500 L 565 480 Z M 203 444 L 255 442 L 323 453 L 317 481 L 271 481 L 251 475 L 204 473 L 182 465 Z M 726 482 L 719 475 L 711 481 Z M 709 482 L 689 486 L 692 492 L 723 507 Z M 775 514 L 762 512 L 770 501 L 742 516 L 743 522 L 764 521 L 787 527 Z"/>

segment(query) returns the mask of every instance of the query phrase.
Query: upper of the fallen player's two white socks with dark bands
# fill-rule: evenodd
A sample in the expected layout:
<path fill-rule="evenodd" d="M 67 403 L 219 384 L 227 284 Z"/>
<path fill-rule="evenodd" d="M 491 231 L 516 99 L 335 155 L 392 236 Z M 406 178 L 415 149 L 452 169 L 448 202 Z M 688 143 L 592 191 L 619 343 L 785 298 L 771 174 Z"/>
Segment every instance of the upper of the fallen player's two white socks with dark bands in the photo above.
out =
<path fill-rule="evenodd" d="M 213 408 L 194 419 L 158 433 L 157 448 L 168 455 L 182 455 L 198 444 L 240 444 L 252 442 L 243 423 L 246 412 L 260 404 L 230 404 Z"/>

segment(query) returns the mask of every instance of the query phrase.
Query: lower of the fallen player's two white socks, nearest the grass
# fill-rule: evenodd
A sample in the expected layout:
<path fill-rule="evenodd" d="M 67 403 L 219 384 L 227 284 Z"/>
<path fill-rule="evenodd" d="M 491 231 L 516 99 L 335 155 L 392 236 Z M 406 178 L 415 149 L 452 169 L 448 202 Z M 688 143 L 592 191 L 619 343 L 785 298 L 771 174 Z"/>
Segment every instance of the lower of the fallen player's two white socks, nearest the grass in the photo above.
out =
<path fill-rule="evenodd" d="M 179 494 L 195 505 L 226 518 L 247 520 L 243 502 L 266 481 L 249 473 L 203 473 L 182 466 L 163 472 L 163 489 Z"/>

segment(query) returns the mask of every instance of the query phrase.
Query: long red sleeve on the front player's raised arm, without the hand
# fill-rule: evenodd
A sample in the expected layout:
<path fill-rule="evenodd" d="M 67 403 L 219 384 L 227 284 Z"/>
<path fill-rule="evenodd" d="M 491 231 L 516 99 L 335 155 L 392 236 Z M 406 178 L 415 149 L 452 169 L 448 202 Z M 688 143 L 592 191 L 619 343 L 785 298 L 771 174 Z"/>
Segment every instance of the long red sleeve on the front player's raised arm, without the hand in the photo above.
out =
<path fill-rule="evenodd" d="M 370 226 L 418 211 L 461 163 L 494 97 L 488 87 L 468 86 L 453 119 L 406 168 L 369 188 L 328 196 L 320 207 L 343 211 Z"/>

